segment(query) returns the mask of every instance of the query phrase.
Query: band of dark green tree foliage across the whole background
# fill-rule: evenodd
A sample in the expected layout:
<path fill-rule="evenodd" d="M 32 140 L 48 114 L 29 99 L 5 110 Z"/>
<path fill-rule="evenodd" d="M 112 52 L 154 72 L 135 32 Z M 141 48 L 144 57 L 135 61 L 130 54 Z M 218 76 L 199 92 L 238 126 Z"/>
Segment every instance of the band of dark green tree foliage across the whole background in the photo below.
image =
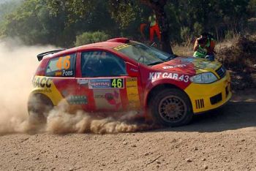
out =
<path fill-rule="evenodd" d="M 189 42 L 202 31 L 214 34 L 218 40 L 245 34 L 252 26 L 248 25 L 249 18 L 256 17 L 256 0 L 20 0 L 20 3 L 19 7 L 0 4 L 0 37 L 20 37 L 29 45 L 71 47 L 78 35 L 95 31 L 140 41 L 140 23 L 148 23 L 152 10 L 156 11 L 167 46 L 169 38 L 171 42 Z"/>

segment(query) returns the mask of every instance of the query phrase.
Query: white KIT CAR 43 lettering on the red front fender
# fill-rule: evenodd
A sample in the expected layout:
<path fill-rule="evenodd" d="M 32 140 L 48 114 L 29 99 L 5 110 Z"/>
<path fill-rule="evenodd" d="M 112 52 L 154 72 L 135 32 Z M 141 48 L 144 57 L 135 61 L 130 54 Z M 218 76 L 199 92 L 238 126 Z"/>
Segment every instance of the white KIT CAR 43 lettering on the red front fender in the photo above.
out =
<path fill-rule="evenodd" d="M 177 73 L 169 72 L 150 72 L 148 80 L 157 80 L 159 78 L 168 78 L 172 80 L 183 81 L 185 83 L 189 82 L 189 75 L 178 75 Z"/>

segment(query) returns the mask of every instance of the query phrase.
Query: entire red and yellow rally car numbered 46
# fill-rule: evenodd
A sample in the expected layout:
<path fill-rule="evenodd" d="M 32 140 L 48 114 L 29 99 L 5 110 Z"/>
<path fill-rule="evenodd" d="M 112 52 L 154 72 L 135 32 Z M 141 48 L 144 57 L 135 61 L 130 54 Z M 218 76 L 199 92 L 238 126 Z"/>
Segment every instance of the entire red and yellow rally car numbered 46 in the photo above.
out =
<path fill-rule="evenodd" d="M 189 123 L 231 97 L 230 75 L 217 61 L 179 57 L 126 38 L 37 56 L 29 113 L 44 117 L 64 102 L 94 112 L 143 111 L 165 126 Z"/>

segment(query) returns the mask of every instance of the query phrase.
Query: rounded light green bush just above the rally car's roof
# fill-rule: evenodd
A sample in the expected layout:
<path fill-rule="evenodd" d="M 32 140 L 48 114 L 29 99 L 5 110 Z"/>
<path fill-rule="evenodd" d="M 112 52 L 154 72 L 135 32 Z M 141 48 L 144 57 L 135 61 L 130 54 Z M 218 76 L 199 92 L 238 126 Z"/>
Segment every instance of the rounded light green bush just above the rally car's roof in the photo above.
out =
<path fill-rule="evenodd" d="M 84 32 L 76 37 L 75 46 L 86 45 L 93 42 L 102 42 L 109 39 L 110 36 L 104 31 Z"/>

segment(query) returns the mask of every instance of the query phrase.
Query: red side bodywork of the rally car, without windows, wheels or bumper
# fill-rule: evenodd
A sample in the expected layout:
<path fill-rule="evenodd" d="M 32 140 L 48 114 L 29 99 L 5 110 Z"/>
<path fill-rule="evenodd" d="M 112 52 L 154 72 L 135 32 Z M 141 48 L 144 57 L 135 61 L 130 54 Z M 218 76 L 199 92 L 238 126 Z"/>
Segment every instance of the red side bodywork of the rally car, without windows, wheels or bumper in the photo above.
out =
<path fill-rule="evenodd" d="M 125 45 L 126 42 L 127 39 L 124 38 L 111 39 L 107 42 L 74 47 L 45 56 L 35 74 L 34 84 L 37 86 L 34 93 L 38 92 L 38 88 L 45 88 L 38 86 L 37 82 L 42 83 L 42 85 L 45 83 L 42 77 L 45 77 L 46 67 L 50 59 L 75 53 L 74 77 L 50 77 L 56 88 L 52 86 L 52 89 L 49 91 L 43 91 L 43 94 L 48 96 L 54 105 L 57 105 L 64 99 L 67 103 L 72 104 L 72 107 L 87 112 L 145 111 L 148 105 L 148 94 L 153 88 L 167 84 L 185 91 L 191 84 L 189 78 L 197 74 L 197 69 L 206 69 L 210 64 L 208 61 L 196 61 L 195 65 L 193 58 L 177 57 L 162 64 L 146 66 L 125 56 L 124 53 L 114 50 L 115 47 Z M 82 77 L 81 53 L 94 50 L 112 53 L 121 58 L 126 64 L 127 75 L 116 77 Z M 211 65 L 214 71 L 219 67 L 219 63 L 215 64 L 216 66 Z M 116 81 L 116 79 L 121 81 L 121 88 L 97 87 L 101 84 L 110 84 L 110 80 Z M 188 96 L 194 95 L 188 94 Z"/>

